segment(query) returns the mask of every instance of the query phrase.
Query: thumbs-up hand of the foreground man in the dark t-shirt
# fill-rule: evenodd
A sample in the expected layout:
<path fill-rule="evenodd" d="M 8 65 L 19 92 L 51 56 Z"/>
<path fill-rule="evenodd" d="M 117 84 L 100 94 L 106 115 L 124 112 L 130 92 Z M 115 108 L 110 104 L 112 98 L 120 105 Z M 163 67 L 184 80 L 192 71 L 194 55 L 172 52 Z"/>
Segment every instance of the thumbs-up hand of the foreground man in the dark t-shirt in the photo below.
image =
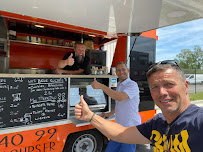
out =
<path fill-rule="evenodd" d="M 83 95 L 80 96 L 80 103 L 75 106 L 75 118 L 79 120 L 90 121 L 93 112 L 89 109 Z"/>

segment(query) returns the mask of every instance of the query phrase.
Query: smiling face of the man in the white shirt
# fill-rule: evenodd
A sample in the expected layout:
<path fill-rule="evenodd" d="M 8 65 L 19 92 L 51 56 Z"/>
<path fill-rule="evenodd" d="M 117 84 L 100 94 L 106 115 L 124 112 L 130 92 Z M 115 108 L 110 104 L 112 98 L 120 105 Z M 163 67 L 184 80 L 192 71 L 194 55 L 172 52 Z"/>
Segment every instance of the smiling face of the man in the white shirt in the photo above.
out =
<path fill-rule="evenodd" d="M 128 78 L 129 70 L 125 64 L 118 64 L 116 66 L 116 75 L 119 78 L 119 81 L 124 81 Z"/>

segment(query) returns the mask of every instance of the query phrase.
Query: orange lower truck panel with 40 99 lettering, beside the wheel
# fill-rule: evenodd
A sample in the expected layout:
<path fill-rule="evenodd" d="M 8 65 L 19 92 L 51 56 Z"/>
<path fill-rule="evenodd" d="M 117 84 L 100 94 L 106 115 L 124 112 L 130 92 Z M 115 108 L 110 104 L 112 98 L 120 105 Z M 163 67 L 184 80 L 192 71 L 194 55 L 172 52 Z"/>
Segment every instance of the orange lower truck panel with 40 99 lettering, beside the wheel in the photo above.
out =
<path fill-rule="evenodd" d="M 1 152 L 59 152 L 70 133 L 92 129 L 73 123 L 0 135 Z"/>

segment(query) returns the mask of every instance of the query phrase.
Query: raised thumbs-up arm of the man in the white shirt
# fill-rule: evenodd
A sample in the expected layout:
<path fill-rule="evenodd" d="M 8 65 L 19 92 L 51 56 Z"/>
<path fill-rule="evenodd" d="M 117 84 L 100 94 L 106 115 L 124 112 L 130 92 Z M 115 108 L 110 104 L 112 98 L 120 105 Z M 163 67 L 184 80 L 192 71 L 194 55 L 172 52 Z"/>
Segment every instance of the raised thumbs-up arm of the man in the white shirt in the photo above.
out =
<path fill-rule="evenodd" d="M 96 78 L 94 78 L 94 81 L 91 83 L 91 86 L 94 89 L 102 89 L 108 96 L 110 96 L 112 99 L 117 100 L 117 101 L 123 101 L 128 98 L 127 93 L 115 91 L 115 90 L 105 86 L 104 84 L 99 83 L 96 80 Z"/>

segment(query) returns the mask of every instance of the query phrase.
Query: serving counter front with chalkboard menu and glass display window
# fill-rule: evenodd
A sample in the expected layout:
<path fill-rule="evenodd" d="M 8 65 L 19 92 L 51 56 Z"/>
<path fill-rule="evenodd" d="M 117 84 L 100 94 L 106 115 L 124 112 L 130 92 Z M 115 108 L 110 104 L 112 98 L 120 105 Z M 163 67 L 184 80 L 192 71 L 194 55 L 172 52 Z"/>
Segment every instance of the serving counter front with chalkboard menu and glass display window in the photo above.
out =
<path fill-rule="evenodd" d="M 112 75 L 0 74 L 0 128 L 63 124 L 73 118 L 80 95 L 91 110 L 109 111 L 111 99 L 91 87 L 94 78 L 117 84 Z"/>

